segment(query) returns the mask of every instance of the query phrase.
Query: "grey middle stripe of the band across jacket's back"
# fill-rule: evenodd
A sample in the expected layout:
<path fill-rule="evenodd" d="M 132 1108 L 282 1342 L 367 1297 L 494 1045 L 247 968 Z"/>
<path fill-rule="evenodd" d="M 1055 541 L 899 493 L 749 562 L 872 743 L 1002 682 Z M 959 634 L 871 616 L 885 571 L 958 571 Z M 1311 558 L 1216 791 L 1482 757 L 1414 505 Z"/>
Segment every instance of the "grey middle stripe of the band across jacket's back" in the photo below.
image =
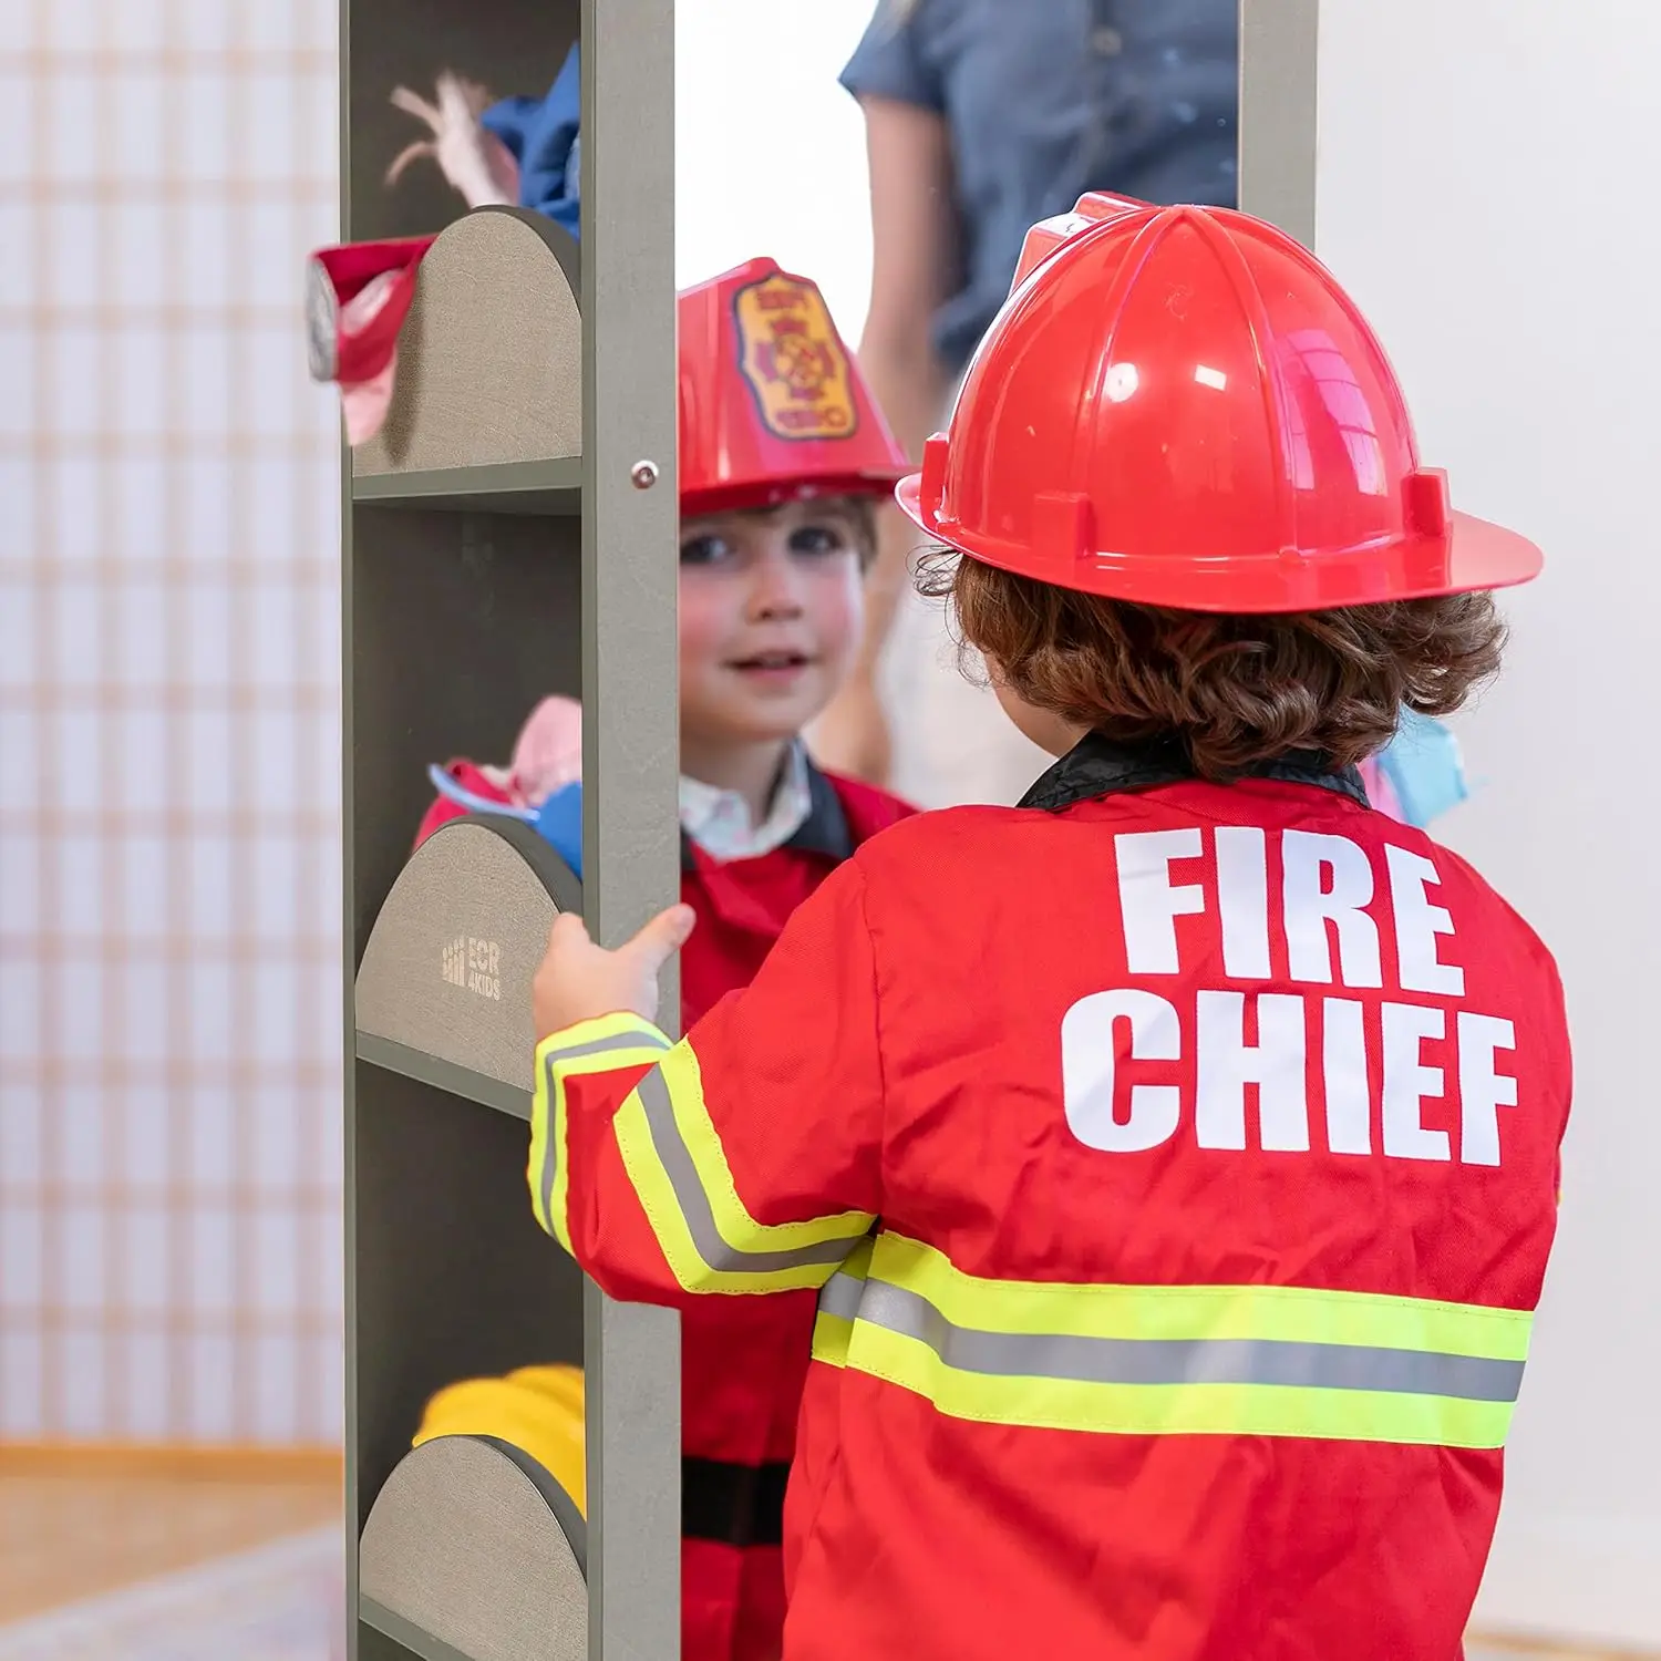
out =
<path fill-rule="evenodd" d="M 1279 1339 L 1093 1339 L 1065 1334 L 982 1332 L 953 1325 L 928 1299 L 867 1281 L 859 1319 L 920 1339 L 960 1372 L 1080 1384 L 1279 1384 L 1316 1390 L 1384 1390 L 1465 1402 L 1515 1402 L 1520 1360 L 1291 1344 Z"/>

